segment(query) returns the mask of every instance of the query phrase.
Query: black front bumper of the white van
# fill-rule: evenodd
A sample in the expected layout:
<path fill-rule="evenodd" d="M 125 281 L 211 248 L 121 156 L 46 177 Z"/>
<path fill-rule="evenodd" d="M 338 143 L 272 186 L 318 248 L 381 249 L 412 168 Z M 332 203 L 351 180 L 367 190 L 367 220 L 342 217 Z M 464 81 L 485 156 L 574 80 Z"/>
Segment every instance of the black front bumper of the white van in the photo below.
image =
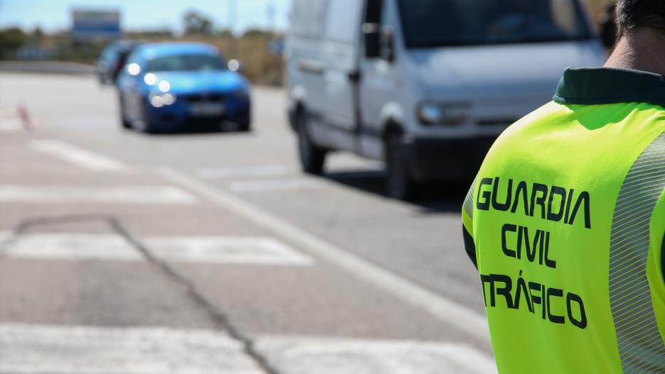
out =
<path fill-rule="evenodd" d="M 475 138 L 404 138 L 407 165 L 413 180 L 472 179 L 497 136 Z"/>

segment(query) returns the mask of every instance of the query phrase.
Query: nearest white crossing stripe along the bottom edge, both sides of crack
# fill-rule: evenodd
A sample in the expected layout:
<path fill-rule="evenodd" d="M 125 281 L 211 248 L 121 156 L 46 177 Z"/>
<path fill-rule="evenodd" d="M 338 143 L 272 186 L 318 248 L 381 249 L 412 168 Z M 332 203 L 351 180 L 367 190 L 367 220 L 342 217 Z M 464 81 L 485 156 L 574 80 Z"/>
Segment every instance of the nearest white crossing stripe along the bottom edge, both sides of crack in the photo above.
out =
<path fill-rule="evenodd" d="M 259 374 L 224 331 L 0 324 L 0 373 Z M 459 343 L 256 336 L 253 351 L 283 374 L 492 374 Z"/>

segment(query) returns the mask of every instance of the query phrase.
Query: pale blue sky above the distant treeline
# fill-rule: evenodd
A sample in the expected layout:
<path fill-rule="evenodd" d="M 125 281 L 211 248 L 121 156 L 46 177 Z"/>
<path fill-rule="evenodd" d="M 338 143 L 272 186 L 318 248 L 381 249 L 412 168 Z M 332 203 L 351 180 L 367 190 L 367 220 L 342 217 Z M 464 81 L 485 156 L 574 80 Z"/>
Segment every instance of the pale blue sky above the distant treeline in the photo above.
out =
<path fill-rule="evenodd" d="M 237 17 L 230 16 L 232 2 L 236 4 Z M 269 25 L 271 6 L 274 25 Z M 233 25 L 235 32 L 242 32 L 274 26 L 284 30 L 290 6 L 291 0 L 0 0 L 0 28 L 18 26 L 29 31 L 39 27 L 47 32 L 68 29 L 71 10 L 82 8 L 119 10 L 125 31 L 163 28 L 181 31 L 183 13 L 190 10 L 211 18 L 215 28 Z"/>

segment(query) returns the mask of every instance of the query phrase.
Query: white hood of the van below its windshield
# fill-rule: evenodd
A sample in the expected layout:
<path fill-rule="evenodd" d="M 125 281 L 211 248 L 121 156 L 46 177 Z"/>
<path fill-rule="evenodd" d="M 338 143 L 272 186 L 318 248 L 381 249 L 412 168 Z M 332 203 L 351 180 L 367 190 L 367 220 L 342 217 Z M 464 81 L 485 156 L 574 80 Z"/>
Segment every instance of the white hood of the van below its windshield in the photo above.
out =
<path fill-rule="evenodd" d="M 598 67 L 605 55 L 595 41 L 414 50 L 430 97 L 536 95 L 550 99 L 566 67 Z"/>

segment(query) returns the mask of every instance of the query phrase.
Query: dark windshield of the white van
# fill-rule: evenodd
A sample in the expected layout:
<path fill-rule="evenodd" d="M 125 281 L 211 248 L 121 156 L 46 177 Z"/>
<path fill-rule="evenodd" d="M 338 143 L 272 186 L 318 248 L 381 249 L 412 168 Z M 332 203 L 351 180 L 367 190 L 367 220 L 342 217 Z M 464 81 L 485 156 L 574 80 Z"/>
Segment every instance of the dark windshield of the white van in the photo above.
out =
<path fill-rule="evenodd" d="M 590 38 L 577 0 L 399 0 L 409 48 Z"/>

